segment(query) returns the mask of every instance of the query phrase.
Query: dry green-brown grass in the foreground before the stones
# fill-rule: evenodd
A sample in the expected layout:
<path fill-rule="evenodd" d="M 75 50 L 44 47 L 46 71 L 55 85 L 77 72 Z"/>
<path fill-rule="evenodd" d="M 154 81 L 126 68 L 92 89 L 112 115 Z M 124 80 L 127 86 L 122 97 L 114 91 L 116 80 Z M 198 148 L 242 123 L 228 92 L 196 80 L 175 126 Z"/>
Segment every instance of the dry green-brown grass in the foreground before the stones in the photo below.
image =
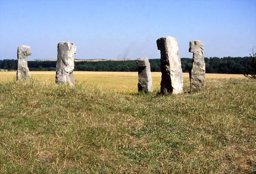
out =
<path fill-rule="evenodd" d="M 0 173 L 256 172 L 256 82 L 188 90 L 0 82 Z"/>

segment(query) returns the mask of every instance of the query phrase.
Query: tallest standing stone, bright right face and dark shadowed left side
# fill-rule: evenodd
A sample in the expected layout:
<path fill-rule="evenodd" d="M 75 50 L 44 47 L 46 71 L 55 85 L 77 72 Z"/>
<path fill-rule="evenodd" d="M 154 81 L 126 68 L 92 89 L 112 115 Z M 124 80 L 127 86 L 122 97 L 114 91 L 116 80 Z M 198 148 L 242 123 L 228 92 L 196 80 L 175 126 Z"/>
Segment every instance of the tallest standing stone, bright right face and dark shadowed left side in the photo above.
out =
<path fill-rule="evenodd" d="M 161 93 L 179 94 L 183 92 L 183 74 L 176 38 L 166 36 L 156 40 L 161 53 Z"/>

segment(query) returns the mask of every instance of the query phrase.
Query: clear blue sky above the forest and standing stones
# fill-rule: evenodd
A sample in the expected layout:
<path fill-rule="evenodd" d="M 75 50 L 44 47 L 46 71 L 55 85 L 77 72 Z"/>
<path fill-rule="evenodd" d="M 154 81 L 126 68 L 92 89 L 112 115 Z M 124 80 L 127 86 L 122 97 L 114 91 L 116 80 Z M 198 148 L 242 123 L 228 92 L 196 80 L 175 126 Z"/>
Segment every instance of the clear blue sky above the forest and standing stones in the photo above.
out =
<path fill-rule="evenodd" d="M 173 36 L 180 57 L 189 41 L 205 57 L 249 56 L 256 45 L 255 0 L 0 0 L 0 59 L 29 45 L 33 59 L 57 59 L 57 44 L 74 42 L 75 58 L 160 58 L 156 40 Z"/>

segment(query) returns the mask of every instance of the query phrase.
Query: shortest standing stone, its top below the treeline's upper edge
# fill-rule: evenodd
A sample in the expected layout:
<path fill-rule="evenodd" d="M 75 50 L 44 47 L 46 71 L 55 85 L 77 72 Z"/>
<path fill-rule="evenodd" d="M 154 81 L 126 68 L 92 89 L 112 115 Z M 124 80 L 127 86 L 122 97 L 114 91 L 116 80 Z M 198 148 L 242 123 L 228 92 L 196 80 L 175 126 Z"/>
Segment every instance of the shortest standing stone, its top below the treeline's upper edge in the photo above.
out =
<path fill-rule="evenodd" d="M 152 76 L 150 72 L 150 63 L 147 57 L 137 59 L 138 67 L 138 91 L 144 91 L 145 93 L 152 92 Z"/>

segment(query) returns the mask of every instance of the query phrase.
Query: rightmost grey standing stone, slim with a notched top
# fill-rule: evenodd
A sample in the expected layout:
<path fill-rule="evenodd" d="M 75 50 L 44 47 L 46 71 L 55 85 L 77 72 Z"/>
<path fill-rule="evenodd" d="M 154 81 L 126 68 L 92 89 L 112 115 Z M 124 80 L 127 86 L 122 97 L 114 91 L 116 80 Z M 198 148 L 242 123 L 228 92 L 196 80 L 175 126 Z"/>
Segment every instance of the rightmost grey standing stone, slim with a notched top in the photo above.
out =
<path fill-rule="evenodd" d="M 189 52 L 193 53 L 193 65 L 189 72 L 190 91 L 204 89 L 205 63 L 204 42 L 193 40 L 189 42 Z"/>

